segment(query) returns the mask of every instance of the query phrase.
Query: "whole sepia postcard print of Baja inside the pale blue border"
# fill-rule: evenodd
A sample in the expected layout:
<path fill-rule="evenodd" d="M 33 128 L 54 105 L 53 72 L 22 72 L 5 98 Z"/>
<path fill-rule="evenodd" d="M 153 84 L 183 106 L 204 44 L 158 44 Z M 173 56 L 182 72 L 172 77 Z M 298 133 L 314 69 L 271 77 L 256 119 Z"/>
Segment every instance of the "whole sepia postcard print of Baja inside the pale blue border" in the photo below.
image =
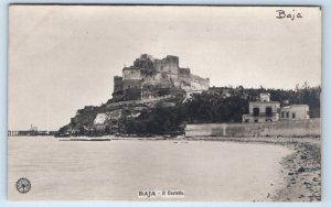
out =
<path fill-rule="evenodd" d="M 8 199 L 321 201 L 321 17 L 11 4 Z"/>

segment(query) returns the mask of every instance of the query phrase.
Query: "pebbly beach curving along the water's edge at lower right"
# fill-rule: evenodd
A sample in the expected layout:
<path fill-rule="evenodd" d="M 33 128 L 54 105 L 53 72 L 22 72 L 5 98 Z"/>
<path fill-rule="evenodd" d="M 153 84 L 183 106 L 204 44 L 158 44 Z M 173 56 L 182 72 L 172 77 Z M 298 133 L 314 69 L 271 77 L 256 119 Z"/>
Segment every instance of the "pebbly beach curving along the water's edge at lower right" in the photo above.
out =
<path fill-rule="evenodd" d="M 206 140 L 211 141 L 210 139 Z M 321 200 L 320 138 L 213 138 L 213 141 L 255 142 L 289 148 L 293 153 L 281 161 L 281 174 L 286 186 L 279 188 L 275 195 L 268 195 L 265 200 Z"/>

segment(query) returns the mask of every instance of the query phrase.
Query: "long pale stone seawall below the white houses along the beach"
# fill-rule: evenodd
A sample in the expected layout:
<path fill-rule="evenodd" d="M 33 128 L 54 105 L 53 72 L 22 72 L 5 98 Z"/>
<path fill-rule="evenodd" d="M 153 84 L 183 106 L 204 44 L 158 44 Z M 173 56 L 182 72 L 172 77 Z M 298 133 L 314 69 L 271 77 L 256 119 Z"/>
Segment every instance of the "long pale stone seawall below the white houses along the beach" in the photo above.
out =
<path fill-rule="evenodd" d="M 319 137 L 320 119 L 278 121 L 271 123 L 204 123 L 188 124 L 186 137 Z"/>

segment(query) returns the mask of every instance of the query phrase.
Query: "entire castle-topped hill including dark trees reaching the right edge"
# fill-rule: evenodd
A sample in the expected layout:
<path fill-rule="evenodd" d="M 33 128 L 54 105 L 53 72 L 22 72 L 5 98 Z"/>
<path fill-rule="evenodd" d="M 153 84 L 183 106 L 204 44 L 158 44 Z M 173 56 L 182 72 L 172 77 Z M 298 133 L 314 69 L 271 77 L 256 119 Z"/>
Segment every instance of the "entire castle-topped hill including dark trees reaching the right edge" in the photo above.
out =
<path fill-rule="evenodd" d="M 57 135 L 159 135 L 184 133 L 186 123 L 242 122 L 248 102 L 261 92 L 280 106 L 308 105 L 310 118 L 320 117 L 321 87 L 306 83 L 295 90 L 209 87 L 209 79 L 179 67 L 179 58 L 141 55 L 115 77 L 107 103 L 77 110 Z"/>

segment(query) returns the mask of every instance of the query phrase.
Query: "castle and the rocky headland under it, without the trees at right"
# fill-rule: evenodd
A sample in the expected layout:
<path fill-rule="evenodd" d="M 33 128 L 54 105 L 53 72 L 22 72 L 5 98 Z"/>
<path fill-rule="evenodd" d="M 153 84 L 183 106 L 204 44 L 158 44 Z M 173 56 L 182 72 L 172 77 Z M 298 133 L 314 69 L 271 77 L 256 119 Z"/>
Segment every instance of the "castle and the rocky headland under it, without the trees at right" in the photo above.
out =
<path fill-rule="evenodd" d="M 142 54 L 131 66 L 122 68 L 122 76 L 114 77 L 113 98 L 107 103 L 77 110 L 71 122 L 58 130 L 57 135 L 136 133 L 134 120 L 140 119 L 140 116 L 157 113 L 154 109 L 181 105 L 190 94 L 205 91 L 209 86 L 209 78 L 201 78 L 191 74 L 190 68 L 180 67 L 177 56 L 168 55 L 158 59 Z M 159 133 L 175 131 L 182 130 L 162 129 Z"/>

